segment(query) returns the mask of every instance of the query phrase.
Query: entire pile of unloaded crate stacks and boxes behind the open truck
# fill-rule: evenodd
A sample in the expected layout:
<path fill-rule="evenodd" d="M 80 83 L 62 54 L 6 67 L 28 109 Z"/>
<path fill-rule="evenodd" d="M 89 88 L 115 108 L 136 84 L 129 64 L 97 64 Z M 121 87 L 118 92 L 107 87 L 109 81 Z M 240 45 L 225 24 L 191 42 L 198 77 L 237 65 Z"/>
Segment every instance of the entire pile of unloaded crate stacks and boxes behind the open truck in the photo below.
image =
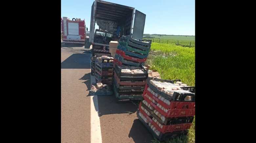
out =
<path fill-rule="evenodd" d="M 118 101 L 141 101 L 137 116 L 160 141 L 187 135 L 195 115 L 195 87 L 181 80 L 160 79 L 158 72 L 150 75 L 153 72 L 144 67 L 150 47 L 151 40 L 122 36 L 111 52 L 115 58 L 92 57 L 96 78 L 92 95 L 114 94 Z"/>

